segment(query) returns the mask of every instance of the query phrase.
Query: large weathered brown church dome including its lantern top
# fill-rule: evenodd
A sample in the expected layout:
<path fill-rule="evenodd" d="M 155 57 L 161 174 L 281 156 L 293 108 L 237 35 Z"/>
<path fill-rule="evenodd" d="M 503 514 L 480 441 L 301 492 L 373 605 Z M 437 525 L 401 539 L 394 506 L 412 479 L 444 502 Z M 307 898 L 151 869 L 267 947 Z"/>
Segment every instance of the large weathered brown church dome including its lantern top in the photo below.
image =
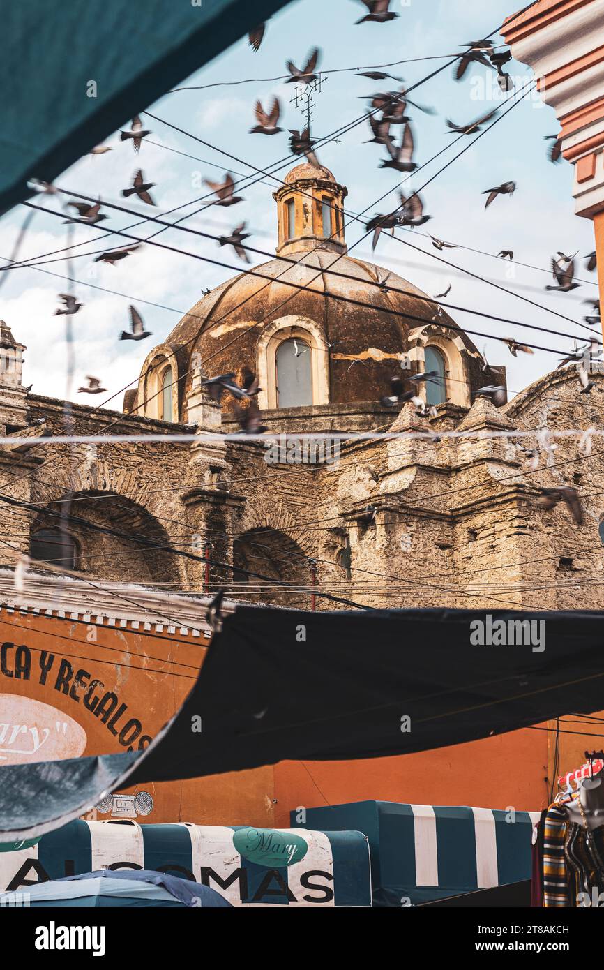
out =
<path fill-rule="evenodd" d="M 479 383 L 502 383 L 500 369 L 481 372 L 471 340 L 425 293 L 348 255 L 346 193 L 328 169 L 297 165 L 274 194 L 277 257 L 216 287 L 175 326 L 162 359 L 172 355 L 173 373 L 183 376 L 180 420 L 196 366 L 209 376 L 256 373 L 261 409 L 374 403 L 405 370 L 442 374 L 433 404 L 468 407 Z"/>

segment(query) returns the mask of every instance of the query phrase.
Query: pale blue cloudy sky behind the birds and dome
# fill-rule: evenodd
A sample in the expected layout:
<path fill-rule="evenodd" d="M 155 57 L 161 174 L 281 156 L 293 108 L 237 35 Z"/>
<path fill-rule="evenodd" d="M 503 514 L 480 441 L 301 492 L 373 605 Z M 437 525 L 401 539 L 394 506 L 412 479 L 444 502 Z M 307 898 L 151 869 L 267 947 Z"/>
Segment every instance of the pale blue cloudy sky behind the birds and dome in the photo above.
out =
<path fill-rule="evenodd" d="M 501 0 L 491 0 L 489 4 L 484 0 L 410 0 L 409 4 L 393 0 L 392 9 L 400 16 L 391 23 L 355 26 L 355 20 L 364 11 L 358 0 L 329 0 L 329 3 L 326 0 L 294 0 L 270 20 L 258 53 L 241 40 L 202 71 L 182 82 L 183 85 L 220 86 L 167 94 L 153 106 L 141 106 L 142 110 L 148 107 L 151 113 L 203 139 L 208 146 L 147 118 L 145 123 L 151 128 L 152 135 L 143 144 L 138 160 L 131 143 L 121 143 L 119 135 L 115 134 L 105 140 L 105 144 L 113 149 L 111 152 L 97 157 L 87 156 L 55 179 L 56 184 L 73 192 L 100 195 L 107 202 L 125 203 L 142 217 L 159 216 L 165 210 L 206 195 L 203 178 L 221 180 L 227 171 L 232 171 L 236 178 L 241 175 L 254 178 L 254 166 L 266 169 L 288 155 L 286 132 L 274 138 L 248 134 L 248 129 L 255 123 L 253 107 L 256 98 L 266 105 L 276 94 L 283 109 L 282 127 L 302 127 L 301 113 L 290 104 L 293 84 L 270 80 L 244 84 L 224 82 L 281 76 L 287 59 L 291 58 L 301 66 L 314 46 L 322 49 L 320 67 L 325 71 L 450 54 L 471 40 L 496 36 L 493 28 L 514 13 L 514 6 Z M 393 67 L 392 73 L 404 78 L 410 86 L 443 63 L 444 60 L 438 59 L 404 63 Z M 420 189 L 468 144 L 469 139 L 452 145 L 455 136 L 448 134 L 446 118 L 458 123 L 467 122 L 503 104 L 498 88 L 493 84 L 493 72 L 472 66 L 463 81 L 457 82 L 452 70 L 447 68 L 411 95 L 420 104 L 432 106 L 436 111 L 429 115 L 411 109 L 416 161 L 424 165 L 442 147 L 451 147 L 410 179 L 406 185 L 408 191 Z M 525 65 L 512 62 L 508 70 L 517 90 L 530 81 L 531 73 Z M 374 82 L 357 78 L 354 71 L 330 74 L 323 92 L 316 98 L 315 135 L 328 136 L 359 117 L 366 106 L 366 102 L 359 99 L 383 89 L 386 83 L 395 86 L 394 81 Z M 555 134 L 558 129 L 552 109 L 543 105 L 536 95 L 525 97 L 492 131 L 475 146 L 469 147 L 422 192 L 425 211 L 432 215 L 432 220 L 413 235 L 408 231 L 398 232 L 400 239 L 413 242 L 422 252 L 383 235 L 372 256 L 369 242 L 358 242 L 364 235 L 363 228 L 358 222 L 351 221 L 346 235 L 350 246 L 358 242 L 353 254 L 393 270 L 430 295 L 444 290 L 451 282 L 451 304 L 550 327 L 562 334 L 585 335 L 585 330 L 554 315 L 561 313 L 572 320 L 582 321 L 588 312 L 582 301 L 597 297 L 595 274 L 588 274 L 583 260 L 578 270 L 578 276 L 585 280 L 581 288 L 570 294 L 556 294 L 545 290 L 545 285 L 553 281 L 547 273 L 511 266 L 493 258 L 500 249 L 513 249 L 518 260 L 548 270 L 551 256 L 557 249 L 567 253 L 579 250 L 581 256 L 593 249 L 591 223 L 574 215 L 571 166 L 564 161 L 555 166 L 547 158 L 548 143 L 543 138 Z M 348 187 L 346 208 L 355 213 L 367 210 L 371 215 L 376 211 L 388 211 L 389 202 L 390 209 L 393 208 L 396 194 L 378 206 L 373 203 L 389 189 L 397 188 L 399 177 L 393 171 L 378 168 L 384 152 L 379 146 L 365 145 L 369 137 L 364 122 L 338 141 L 320 148 L 318 154 L 322 164 L 332 169 L 335 177 Z M 167 150 L 170 148 L 195 158 Z M 219 149 L 237 156 L 240 161 L 230 160 Z M 293 164 L 294 160 L 291 161 Z M 156 182 L 153 194 L 157 209 L 151 210 L 141 203 L 120 198 L 120 189 L 129 184 L 139 165 L 145 178 Z M 279 170 L 276 178 L 282 178 L 288 167 L 290 163 Z M 44 174 L 40 177 L 44 178 Z M 510 179 L 518 183 L 515 195 L 498 198 L 485 211 L 483 190 Z M 272 253 L 276 229 L 272 191 L 276 187 L 278 181 L 262 179 L 242 190 L 245 201 L 234 209 L 209 209 L 186 220 L 184 225 L 219 234 L 221 228 L 231 229 L 246 219 L 248 230 L 252 232 L 248 242 Z M 173 219 L 201 205 L 203 203 L 184 208 L 167 218 Z M 132 216 L 106 211 L 111 215 L 105 222 L 108 228 L 120 229 L 135 221 Z M 10 255 L 24 212 L 17 207 L 0 220 L 0 256 Z M 133 232 L 147 237 L 158 228 L 146 223 Z M 441 239 L 492 255 L 480 255 L 462 248 L 448 249 L 440 255 L 459 269 L 444 267 L 433 258 L 433 254 L 438 253 L 424 235 L 426 230 Z M 66 244 L 65 239 L 65 227 L 58 218 L 37 215 L 19 258 L 60 248 Z M 232 250 L 219 249 L 211 240 L 176 229 L 163 233 L 159 239 L 170 246 L 239 266 L 238 257 Z M 112 237 L 106 243 L 104 234 L 87 227 L 77 227 L 74 241 L 89 243 L 76 250 L 82 253 L 120 242 L 118 237 Z M 254 260 L 257 263 L 264 261 L 266 258 L 263 257 Z M 76 369 L 71 397 L 84 403 L 90 403 L 91 399 L 75 393 L 84 374 L 92 373 L 102 378 L 111 393 L 120 391 L 136 380 L 146 354 L 154 344 L 168 336 L 179 315 L 199 300 L 201 290 L 235 275 L 231 270 L 151 245 L 114 267 L 95 264 L 93 257 L 75 259 L 73 267 L 79 280 L 76 292 L 84 307 L 73 318 Z M 240 267 L 243 269 L 243 264 Z M 16 338 L 28 347 L 24 382 L 33 382 L 37 393 L 60 398 L 66 394 L 68 386 L 64 318 L 53 314 L 57 307 L 56 294 L 64 291 L 67 284 L 64 279 L 48 274 L 65 275 L 67 268 L 64 260 L 58 260 L 42 269 L 47 271 L 46 274 L 25 269 L 11 273 L 0 292 L 0 317 L 13 328 Z M 464 275 L 461 269 L 497 282 L 545 308 L 532 307 L 518 296 L 502 293 L 488 283 Z M 87 284 L 119 291 L 125 297 L 95 290 Z M 149 307 L 143 301 L 172 309 Z M 147 329 L 153 333 L 152 338 L 142 343 L 124 343 L 117 339 L 120 330 L 127 325 L 129 303 L 140 309 Z M 548 312 L 548 309 L 554 312 Z M 456 321 L 469 330 L 513 336 L 560 351 L 572 348 L 572 340 L 565 337 L 537 335 L 461 310 L 451 312 Z M 557 363 L 556 355 L 551 353 L 535 352 L 533 356 L 521 355 L 515 359 L 496 340 L 479 336 L 473 339 L 479 349 L 486 346 L 490 362 L 507 367 L 508 386 L 512 392 L 521 390 L 540 374 L 553 370 Z M 95 399 L 95 403 L 98 401 Z M 121 403 L 121 394 L 113 406 L 117 403 Z"/>

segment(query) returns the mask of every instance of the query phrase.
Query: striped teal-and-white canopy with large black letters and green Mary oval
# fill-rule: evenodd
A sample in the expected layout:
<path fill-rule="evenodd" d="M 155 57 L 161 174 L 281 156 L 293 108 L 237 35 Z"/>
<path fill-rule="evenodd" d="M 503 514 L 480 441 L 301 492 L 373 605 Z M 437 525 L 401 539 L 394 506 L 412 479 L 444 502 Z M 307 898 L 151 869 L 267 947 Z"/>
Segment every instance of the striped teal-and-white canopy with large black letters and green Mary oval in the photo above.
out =
<path fill-rule="evenodd" d="M 78 820 L 0 853 L 0 893 L 104 868 L 154 869 L 215 889 L 233 906 L 370 906 L 361 832 Z"/>

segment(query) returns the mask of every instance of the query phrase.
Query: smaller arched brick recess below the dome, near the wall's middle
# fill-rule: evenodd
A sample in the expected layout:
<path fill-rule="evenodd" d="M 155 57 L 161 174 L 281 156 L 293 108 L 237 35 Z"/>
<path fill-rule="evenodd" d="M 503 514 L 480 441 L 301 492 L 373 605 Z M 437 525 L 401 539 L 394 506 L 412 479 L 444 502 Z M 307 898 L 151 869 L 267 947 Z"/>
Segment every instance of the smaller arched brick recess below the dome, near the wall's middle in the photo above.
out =
<path fill-rule="evenodd" d="M 250 529 L 233 543 L 233 594 L 236 599 L 290 606 L 295 609 L 310 605 L 310 567 L 301 546 L 278 529 Z M 246 570 L 259 572 L 269 580 L 249 576 Z M 292 584 L 292 589 L 273 585 L 270 579 Z"/>

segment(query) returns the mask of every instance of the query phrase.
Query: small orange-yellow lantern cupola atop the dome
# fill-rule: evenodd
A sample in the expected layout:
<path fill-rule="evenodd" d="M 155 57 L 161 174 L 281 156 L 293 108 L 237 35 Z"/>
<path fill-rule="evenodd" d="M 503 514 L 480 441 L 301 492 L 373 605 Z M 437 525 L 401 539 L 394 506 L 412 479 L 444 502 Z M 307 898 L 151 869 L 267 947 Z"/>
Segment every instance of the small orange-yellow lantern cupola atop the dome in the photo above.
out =
<path fill-rule="evenodd" d="M 277 255 L 310 251 L 319 245 L 345 254 L 343 204 L 348 189 L 335 181 L 329 169 L 307 162 L 288 172 L 284 180 L 273 195 L 277 204 Z"/>

